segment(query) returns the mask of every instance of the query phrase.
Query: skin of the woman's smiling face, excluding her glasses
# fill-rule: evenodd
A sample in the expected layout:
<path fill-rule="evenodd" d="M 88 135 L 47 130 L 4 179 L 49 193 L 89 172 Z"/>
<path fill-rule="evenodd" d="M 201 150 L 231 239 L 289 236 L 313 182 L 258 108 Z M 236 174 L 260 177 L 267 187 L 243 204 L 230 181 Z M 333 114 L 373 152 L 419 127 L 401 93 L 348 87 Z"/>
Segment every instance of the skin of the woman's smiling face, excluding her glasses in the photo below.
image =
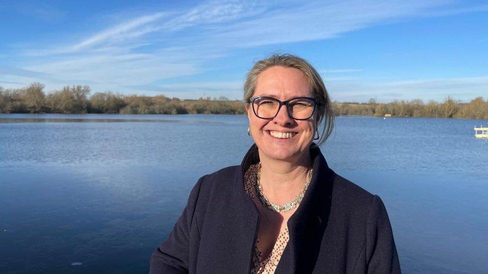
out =
<path fill-rule="evenodd" d="M 313 97 L 310 84 L 303 72 L 296 68 L 281 66 L 267 68 L 258 75 L 252 96 L 269 96 L 280 101 L 293 97 Z M 288 116 L 284 105 L 281 106 L 276 117 L 270 119 L 257 117 L 251 105 L 246 109 L 250 134 L 259 149 L 261 158 L 264 156 L 291 162 L 298 161 L 304 153 L 308 152 L 315 132 L 316 111 L 307 120 L 295 120 Z"/>

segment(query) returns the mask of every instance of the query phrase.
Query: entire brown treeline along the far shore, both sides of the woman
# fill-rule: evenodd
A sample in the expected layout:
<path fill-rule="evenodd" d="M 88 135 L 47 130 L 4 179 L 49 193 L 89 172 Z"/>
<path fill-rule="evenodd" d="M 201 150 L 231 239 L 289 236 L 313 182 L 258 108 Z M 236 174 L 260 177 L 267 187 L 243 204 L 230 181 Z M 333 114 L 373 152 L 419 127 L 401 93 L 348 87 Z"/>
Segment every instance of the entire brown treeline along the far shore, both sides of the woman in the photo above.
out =
<path fill-rule="evenodd" d="M 225 97 L 197 100 L 169 98 L 164 95 L 122 95 L 96 92 L 91 96 L 89 86 L 65 86 L 61 90 L 44 92 L 44 85 L 32 83 L 19 89 L 0 86 L 0 113 L 120 113 L 120 114 L 242 114 L 244 105 L 239 100 Z M 488 119 L 488 100 L 477 97 L 461 103 L 450 97 L 443 102 L 415 99 L 377 103 L 333 102 L 336 115 L 367 115 L 393 117 L 443 117 Z"/>

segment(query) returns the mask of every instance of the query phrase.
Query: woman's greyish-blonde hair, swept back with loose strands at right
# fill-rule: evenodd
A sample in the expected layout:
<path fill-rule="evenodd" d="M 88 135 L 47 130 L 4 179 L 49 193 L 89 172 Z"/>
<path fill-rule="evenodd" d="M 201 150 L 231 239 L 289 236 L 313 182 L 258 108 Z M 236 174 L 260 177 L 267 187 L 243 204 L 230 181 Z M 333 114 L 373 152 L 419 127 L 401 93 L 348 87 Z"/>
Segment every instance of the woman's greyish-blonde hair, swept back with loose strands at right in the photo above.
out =
<path fill-rule="evenodd" d="M 261 59 L 254 63 L 252 68 L 247 72 L 244 81 L 244 102 L 246 106 L 250 104 L 249 99 L 254 94 L 257 77 L 261 72 L 273 66 L 296 68 L 303 72 L 310 82 L 310 89 L 313 97 L 317 99 L 317 131 L 319 125 L 322 126 L 320 137 L 317 145 L 321 145 L 327 140 L 334 128 L 334 113 L 330 97 L 325 89 L 322 78 L 313 66 L 303 58 L 293 54 L 273 53 L 269 57 Z"/>

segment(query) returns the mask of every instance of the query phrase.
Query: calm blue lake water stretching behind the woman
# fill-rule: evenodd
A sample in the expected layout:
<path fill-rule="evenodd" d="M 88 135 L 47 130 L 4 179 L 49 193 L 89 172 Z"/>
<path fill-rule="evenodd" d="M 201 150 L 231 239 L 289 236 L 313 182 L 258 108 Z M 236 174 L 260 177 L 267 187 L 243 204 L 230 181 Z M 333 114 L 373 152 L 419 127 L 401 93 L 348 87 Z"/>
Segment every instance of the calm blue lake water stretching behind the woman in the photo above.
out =
<path fill-rule="evenodd" d="M 321 147 L 384 201 L 404 273 L 488 273 L 488 121 L 338 117 Z M 0 273 L 146 273 L 241 115 L 0 114 Z"/>

